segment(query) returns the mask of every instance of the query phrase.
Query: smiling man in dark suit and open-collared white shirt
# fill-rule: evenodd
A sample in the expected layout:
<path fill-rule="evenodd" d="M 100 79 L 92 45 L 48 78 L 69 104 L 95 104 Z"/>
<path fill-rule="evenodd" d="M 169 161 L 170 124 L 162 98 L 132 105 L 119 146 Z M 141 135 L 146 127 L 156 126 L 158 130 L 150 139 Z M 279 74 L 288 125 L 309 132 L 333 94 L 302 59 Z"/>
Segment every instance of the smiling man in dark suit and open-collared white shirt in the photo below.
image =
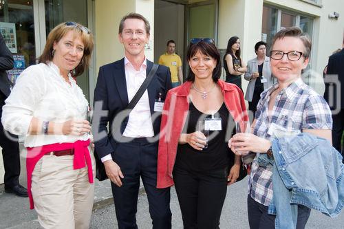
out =
<path fill-rule="evenodd" d="M 144 55 L 149 30 L 149 22 L 140 14 L 130 13 L 122 18 L 118 39 L 125 48 L 125 58 L 100 67 L 94 91 L 94 144 L 111 179 L 120 229 L 138 228 L 140 177 L 147 193 L 153 228 L 171 228 L 170 189 L 156 188 L 162 102 L 171 88 L 167 67 L 159 65 L 129 117 L 121 117 L 121 111 L 153 67 Z"/>

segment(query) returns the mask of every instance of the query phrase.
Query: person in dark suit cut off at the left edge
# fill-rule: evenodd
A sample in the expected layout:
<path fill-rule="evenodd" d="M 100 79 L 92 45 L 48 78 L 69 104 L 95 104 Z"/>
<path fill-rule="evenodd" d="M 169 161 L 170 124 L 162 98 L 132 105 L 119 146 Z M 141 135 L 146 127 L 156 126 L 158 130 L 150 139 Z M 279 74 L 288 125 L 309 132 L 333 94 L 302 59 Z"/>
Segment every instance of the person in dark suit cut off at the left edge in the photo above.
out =
<path fill-rule="evenodd" d="M 6 70 L 13 68 L 13 56 L 0 33 L 0 116 L 5 100 L 10 95 L 10 80 Z M 9 138 L 10 137 L 10 138 Z M 14 193 L 20 197 L 28 197 L 26 188 L 19 184 L 19 174 L 21 171 L 19 144 L 17 135 L 5 133 L 3 125 L 0 123 L 0 146 L 2 148 L 3 166 L 5 167 L 5 192 Z"/>

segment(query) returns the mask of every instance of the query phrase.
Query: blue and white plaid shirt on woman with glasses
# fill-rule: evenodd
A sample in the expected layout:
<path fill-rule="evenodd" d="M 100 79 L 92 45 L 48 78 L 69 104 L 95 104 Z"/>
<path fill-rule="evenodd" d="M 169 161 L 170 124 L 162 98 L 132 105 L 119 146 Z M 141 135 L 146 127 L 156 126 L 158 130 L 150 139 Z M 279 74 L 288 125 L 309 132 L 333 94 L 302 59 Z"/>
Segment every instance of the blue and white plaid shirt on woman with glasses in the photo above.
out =
<path fill-rule="evenodd" d="M 327 102 L 305 85 L 301 78 L 281 90 L 269 112 L 270 95 L 278 87 L 278 84 L 272 85 L 261 93 L 255 115 L 255 135 L 270 140 L 275 136 L 276 128 L 283 133 L 295 133 L 302 129 L 332 129 L 332 116 Z M 252 162 L 248 187 L 252 199 L 269 206 L 272 199 L 272 166 L 259 166 L 256 157 Z"/>

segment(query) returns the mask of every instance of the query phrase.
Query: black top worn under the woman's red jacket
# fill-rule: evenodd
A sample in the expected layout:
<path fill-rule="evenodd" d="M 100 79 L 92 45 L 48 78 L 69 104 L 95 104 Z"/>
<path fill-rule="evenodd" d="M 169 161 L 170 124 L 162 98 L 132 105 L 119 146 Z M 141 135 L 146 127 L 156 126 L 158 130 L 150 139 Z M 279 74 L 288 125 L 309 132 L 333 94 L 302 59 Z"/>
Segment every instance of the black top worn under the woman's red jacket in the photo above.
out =
<path fill-rule="evenodd" d="M 211 118 L 196 109 L 190 103 L 188 119 L 182 133 L 193 133 L 196 129 L 197 121 L 200 117 Z M 226 141 L 226 128 L 230 113 L 223 103 L 219 111 L 215 113 L 215 118 L 221 118 L 222 131 L 209 131 L 208 148 L 202 151 L 193 149 L 189 144 L 178 144 L 175 166 L 191 171 L 213 171 L 226 168 L 229 165 L 230 150 Z M 212 137 L 215 136 L 215 137 Z"/>

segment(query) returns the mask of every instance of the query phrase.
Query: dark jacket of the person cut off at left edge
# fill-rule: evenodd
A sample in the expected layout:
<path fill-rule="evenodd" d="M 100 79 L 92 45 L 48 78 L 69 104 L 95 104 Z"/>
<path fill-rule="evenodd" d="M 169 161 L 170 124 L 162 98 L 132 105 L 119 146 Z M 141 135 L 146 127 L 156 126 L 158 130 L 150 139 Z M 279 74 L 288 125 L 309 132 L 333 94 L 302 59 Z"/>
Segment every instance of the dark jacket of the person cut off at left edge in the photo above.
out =
<path fill-rule="evenodd" d="M 8 80 L 8 76 L 6 70 L 10 70 L 14 67 L 14 60 L 12 53 L 8 50 L 5 41 L 0 33 L 0 91 L 3 95 L 0 96 L 1 103 L 6 100 L 8 96 L 10 96 L 10 80 Z"/>

